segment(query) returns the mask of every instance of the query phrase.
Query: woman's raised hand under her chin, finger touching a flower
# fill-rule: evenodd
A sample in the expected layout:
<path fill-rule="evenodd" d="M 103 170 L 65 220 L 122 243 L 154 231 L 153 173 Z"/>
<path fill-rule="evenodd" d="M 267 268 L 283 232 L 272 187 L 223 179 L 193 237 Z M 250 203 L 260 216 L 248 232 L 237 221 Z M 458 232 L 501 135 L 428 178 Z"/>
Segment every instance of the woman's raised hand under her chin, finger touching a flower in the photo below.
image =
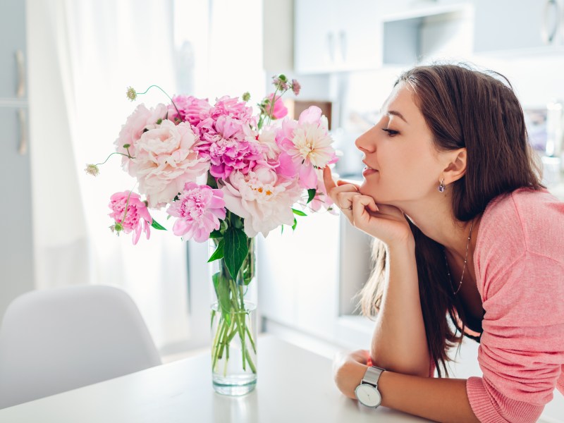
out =
<path fill-rule="evenodd" d="M 338 180 L 337 183 L 331 177 L 329 166 L 323 170 L 323 181 L 327 194 L 331 200 L 343 210 L 353 226 L 361 231 L 384 241 L 386 245 L 405 243 L 413 241 L 413 235 L 398 207 L 387 204 L 378 204 L 369 195 L 362 195 L 359 186 Z"/>

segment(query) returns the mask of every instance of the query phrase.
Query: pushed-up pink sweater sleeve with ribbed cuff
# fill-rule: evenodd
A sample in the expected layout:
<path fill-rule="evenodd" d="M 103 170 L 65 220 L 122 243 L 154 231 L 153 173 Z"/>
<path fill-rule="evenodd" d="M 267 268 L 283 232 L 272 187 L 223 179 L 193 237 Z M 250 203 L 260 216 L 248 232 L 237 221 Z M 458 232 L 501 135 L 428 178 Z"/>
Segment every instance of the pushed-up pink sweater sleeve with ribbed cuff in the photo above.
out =
<path fill-rule="evenodd" d="M 480 422 L 536 422 L 564 362 L 563 264 L 527 250 L 510 260 L 485 275 L 483 376 L 466 385 Z"/>

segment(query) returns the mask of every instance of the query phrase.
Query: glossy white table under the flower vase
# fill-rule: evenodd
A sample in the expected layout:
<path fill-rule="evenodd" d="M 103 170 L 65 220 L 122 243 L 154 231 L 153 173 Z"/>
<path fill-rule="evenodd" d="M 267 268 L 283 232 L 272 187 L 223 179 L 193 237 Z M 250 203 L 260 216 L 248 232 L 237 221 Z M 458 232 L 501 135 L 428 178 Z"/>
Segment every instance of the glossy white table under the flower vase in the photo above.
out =
<path fill-rule="evenodd" d="M 259 338 L 257 388 L 247 396 L 213 391 L 208 354 L 0 410 L 0 422 L 427 422 L 345 398 L 331 360 L 275 338 Z"/>

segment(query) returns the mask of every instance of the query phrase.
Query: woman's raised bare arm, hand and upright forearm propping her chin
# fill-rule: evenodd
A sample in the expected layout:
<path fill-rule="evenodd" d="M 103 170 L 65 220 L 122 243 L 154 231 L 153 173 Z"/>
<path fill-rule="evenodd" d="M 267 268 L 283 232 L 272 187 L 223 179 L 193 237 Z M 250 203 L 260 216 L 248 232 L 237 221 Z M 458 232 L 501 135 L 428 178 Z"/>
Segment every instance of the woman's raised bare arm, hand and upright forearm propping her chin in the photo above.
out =
<path fill-rule="evenodd" d="M 429 348 L 423 323 L 419 281 L 415 263 L 415 240 L 397 207 L 376 206 L 359 187 L 335 183 L 324 169 L 326 190 L 356 228 L 387 245 L 386 282 L 372 337 L 372 361 L 379 367 L 403 374 L 429 376 Z M 350 207 L 350 209 L 348 208 Z"/>

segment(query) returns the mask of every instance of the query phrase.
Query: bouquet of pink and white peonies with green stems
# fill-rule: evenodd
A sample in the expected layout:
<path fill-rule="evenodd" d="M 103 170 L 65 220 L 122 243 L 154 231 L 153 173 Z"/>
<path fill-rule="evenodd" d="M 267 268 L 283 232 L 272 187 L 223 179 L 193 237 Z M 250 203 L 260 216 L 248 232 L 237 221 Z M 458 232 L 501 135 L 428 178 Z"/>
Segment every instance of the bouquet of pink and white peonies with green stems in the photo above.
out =
<path fill-rule="evenodd" d="M 149 209 L 166 208 L 174 235 L 213 242 L 209 262 L 220 263 L 212 276 L 217 299 L 212 324 L 219 315 L 214 369 L 238 337 L 243 369 L 256 372 L 244 301 L 255 278 L 255 236 L 278 226 L 295 228 L 295 216 L 305 216 L 308 209 L 331 210 L 321 177 L 322 169 L 336 161 L 327 119 L 314 106 L 298 121 L 285 118 L 281 97 L 288 90 L 298 95 L 300 84 L 285 75 L 273 77 L 273 84 L 274 92 L 257 104 L 257 114 L 247 105 L 248 93 L 242 100 L 221 97 L 213 105 L 186 95 L 167 96 L 170 103 L 150 109 L 140 104 L 112 153 L 121 155 L 139 192 L 111 196 L 112 231 L 133 233 L 134 244 L 143 232 L 148 239 L 151 228 L 165 229 Z M 130 99 L 138 94 L 144 93 L 128 89 Z M 99 170 L 89 164 L 86 171 L 96 175 Z"/>

